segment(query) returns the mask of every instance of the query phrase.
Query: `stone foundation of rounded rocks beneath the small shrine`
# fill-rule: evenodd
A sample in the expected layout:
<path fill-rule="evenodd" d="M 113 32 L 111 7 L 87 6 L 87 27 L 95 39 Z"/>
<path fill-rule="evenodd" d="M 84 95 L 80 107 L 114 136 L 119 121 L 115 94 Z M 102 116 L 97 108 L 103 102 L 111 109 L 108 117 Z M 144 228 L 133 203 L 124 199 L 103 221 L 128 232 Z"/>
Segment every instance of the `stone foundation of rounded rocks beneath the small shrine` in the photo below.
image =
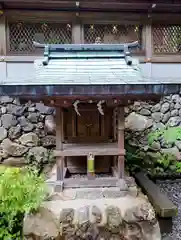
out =
<path fill-rule="evenodd" d="M 155 212 L 127 178 L 118 188 L 51 192 L 34 215 L 24 219 L 28 239 L 161 240 Z"/>

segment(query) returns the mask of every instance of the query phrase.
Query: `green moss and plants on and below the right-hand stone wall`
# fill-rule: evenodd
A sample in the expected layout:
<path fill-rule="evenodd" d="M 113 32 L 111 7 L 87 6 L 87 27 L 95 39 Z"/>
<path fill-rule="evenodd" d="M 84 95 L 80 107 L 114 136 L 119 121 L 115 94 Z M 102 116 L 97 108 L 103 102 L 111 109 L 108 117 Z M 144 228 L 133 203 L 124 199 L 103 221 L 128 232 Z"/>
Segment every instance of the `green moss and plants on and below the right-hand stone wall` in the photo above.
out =
<path fill-rule="evenodd" d="M 181 140 L 181 127 L 168 127 L 148 134 L 148 144 L 164 141 L 173 144 Z M 150 176 L 174 176 L 181 173 L 181 162 L 170 153 L 154 152 L 151 148 L 144 151 L 138 147 L 126 145 L 126 166 L 129 171 L 145 171 Z"/>

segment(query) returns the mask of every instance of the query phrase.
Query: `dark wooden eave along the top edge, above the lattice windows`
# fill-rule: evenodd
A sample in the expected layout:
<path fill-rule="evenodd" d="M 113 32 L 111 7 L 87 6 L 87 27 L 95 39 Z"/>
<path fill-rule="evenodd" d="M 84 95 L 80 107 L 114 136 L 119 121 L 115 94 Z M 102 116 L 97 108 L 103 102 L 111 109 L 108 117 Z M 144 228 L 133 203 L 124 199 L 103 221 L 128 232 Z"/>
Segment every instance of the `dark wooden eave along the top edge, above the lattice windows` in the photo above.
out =
<path fill-rule="evenodd" d="M 108 1 L 108 0 L 81 0 L 78 1 L 60 0 L 1 0 L 4 9 L 26 9 L 26 10 L 56 10 L 56 11 L 116 11 L 116 12 L 153 12 L 170 13 L 181 12 L 181 2 L 178 0 L 128 0 L 128 1 Z"/>

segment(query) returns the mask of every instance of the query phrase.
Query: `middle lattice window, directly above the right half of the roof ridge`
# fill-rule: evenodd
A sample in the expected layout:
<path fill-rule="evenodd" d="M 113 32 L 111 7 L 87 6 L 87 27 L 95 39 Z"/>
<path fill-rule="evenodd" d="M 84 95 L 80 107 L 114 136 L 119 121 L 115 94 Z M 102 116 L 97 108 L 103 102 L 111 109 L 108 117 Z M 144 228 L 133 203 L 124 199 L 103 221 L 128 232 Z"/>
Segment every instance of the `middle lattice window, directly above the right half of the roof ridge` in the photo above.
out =
<path fill-rule="evenodd" d="M 142 26 L 116 24 L 84 25 L 84 43 L 128 43 L 142 45 Z"/>

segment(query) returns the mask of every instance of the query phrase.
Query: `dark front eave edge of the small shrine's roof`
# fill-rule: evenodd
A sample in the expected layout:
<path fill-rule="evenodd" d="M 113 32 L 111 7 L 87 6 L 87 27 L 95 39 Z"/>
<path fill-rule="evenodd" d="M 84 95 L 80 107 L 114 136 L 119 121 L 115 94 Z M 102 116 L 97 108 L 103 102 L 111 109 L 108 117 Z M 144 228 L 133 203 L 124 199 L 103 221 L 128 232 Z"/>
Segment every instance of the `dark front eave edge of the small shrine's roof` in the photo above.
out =
<path fill-rule="evenodd" d="M 13 97 L 27 97 L 27 98 L 43 98 L 50 96 L 62 96 L 64 99 L 67 99 L 70 96 L 69 87 L 64 87 L 60 85 L 19 85 L 19 86 L 10 86 L 10 85 L 1 85 L 0 93 L 1 95 L 9 95 Z M 179 94 L 181 92 L 180 84 L 132 84 L 132 85 L 119 85 L 111 86 L 107 88 L 107 94 L 102 92 L 102 86 L 80 86 L 81 91 L 78 92 L 76 86 L 72 86 L 70 98 L 74 99 L 84 99 L 85 95 L 90 99 L 104 99 L 108 98 L 109 92 L 110 96 L 118 99 L 148 99 L 156 98 L 163 95 L 169 94 Z M 89 92 L 89 95 L 87 93 Z M 129 94 L 128 94 L 129 92 Z M 85 93 L 85 94 L 84 94 Z"/>

